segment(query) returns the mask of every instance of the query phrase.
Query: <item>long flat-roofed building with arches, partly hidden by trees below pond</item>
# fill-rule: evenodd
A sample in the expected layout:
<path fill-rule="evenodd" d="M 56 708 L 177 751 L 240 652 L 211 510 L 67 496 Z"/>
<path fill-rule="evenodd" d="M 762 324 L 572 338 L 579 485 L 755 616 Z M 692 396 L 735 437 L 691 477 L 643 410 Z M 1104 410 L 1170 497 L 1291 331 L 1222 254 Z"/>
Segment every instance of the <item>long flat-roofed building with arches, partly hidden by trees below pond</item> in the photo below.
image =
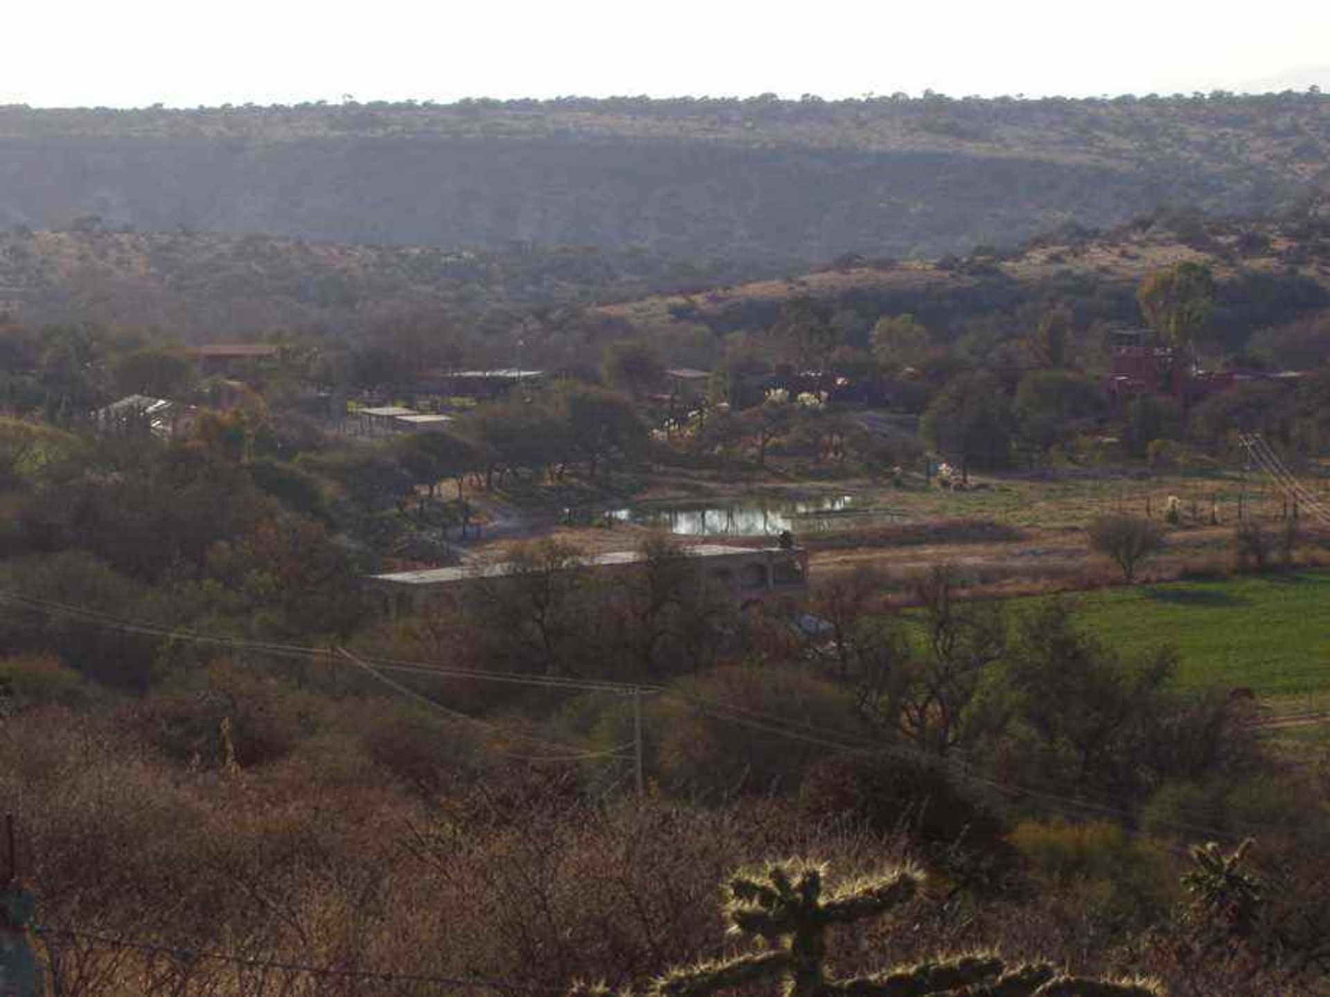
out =
<path fill-rule="evenodd" d="M 739 608 L 761 606 L 793 615 L 807 604 L 809 553 L 803 548 L 702 544 L 681 550 L 704 582 Z M 641 570 L 644 560 L 636 550 L 616 550 L 587 557 L 567 570 L 626 578 Z M 517 576 L 519 569 L 511 564 L 467 565 L 374 574 L 364 578 L 364 586 L 382 598 L 384 613 L 395 617 L 460 601 L 479 584 Z"/>

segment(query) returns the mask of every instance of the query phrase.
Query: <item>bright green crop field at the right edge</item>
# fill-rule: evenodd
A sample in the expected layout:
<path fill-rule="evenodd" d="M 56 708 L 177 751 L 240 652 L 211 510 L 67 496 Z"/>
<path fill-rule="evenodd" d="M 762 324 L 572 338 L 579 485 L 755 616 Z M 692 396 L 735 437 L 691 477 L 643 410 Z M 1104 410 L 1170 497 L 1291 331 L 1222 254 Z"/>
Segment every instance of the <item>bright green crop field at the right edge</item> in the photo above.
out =
<path fill-rule="evenodd" d="M 1101 589 L 1076 617 L 1134 655 L 1173 645 L 1184 689 L 1248 686 L 1282 710 L 1330 706 L 1330 572 Z M 1017 600 L 1016 605 L 1025 602 Z"/>

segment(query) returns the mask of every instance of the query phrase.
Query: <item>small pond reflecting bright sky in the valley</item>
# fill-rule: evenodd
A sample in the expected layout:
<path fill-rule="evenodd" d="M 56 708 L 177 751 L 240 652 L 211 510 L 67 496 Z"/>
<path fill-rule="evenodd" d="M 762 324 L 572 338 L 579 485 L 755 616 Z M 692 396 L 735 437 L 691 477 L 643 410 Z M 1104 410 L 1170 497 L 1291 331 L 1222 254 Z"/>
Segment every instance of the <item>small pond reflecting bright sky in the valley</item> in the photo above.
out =
<path fill-rule="evenodd" d="M 801 533 L 831 529 L 854 509 L 854 496 L 842 495 L 802 502 L 746 501 L 708 506 L 628 506 L 610 509 L 618 522 L 664 526 L 682 537 L 761 537 L 782 530 Z"/>

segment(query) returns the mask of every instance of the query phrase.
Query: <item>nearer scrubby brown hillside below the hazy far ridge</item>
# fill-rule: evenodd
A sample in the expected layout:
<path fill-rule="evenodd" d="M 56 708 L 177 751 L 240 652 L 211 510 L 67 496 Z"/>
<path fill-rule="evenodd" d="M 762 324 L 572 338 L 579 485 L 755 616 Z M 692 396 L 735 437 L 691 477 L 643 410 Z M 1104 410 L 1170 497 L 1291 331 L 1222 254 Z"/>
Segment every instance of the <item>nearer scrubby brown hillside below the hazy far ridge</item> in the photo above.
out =
<path fill-rule="evenodd" d="M 1130 324 L 1142 277 L 1181 259 L 1214 269 L 1214 328 L 1233 348 L 1330 304 L 1325 221 L 1174 213 L 1107 231 L 1064 227 L 1007 251 L 845 255 L 815 270 L 595 249 L 450 254 L 257 235 L 19 233 L 0 235 L 0 314 L 193 340 L 451 328 L 475 363 L 507 363 L 521 328 L 528 359 L 559 368 L 595 367 L 604 342 L 642 335 L 673 363 L 710 367 L 726 334 L 770 328 L 797 298 L 827 308 L 851 343 L 902 312 L 952 336 L 982 326 L 998 339 L 1063 303 L 1083 328 Z"/>

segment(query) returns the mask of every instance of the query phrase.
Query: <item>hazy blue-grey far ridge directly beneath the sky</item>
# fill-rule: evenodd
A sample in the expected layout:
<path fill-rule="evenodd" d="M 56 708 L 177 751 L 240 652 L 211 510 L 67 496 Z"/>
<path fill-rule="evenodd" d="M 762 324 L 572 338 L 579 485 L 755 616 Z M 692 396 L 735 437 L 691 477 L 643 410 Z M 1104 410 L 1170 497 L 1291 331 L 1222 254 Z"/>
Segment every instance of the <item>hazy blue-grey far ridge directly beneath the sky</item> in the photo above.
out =
<path fill-rule="evenodd" d="M 1158 205 L 1283 210 L 1327 156 L 1313 93 L 9 106 L 0 227 L 927 258 Z"/>

